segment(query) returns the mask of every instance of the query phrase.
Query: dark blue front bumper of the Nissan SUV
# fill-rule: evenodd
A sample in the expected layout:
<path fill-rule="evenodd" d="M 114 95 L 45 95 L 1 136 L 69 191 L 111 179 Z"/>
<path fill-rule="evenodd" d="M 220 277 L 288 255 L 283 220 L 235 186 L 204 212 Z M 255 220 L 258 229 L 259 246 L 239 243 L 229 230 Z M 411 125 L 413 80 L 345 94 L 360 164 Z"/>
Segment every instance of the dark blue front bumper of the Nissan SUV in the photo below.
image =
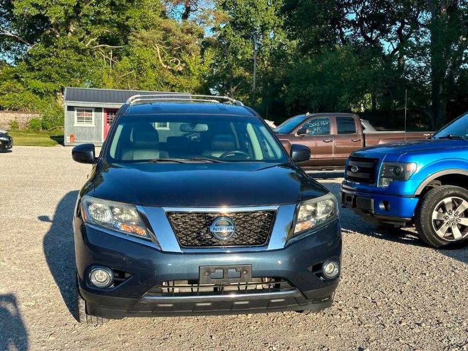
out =
<path fill-rule="evenodd" d="M 278 250 L 236 252 L 163 252 L 138 241 L 109 235 L 75 222 L 75 255 L 79 293 L 89 314 L 126 316 L 219 315 L 287 310 L 322 310 L 331 305 L 339 276 L 324 280 L 313 267 L 329 258 L 340 260 L 338 220 Z M 200 266 L 251 265 L 252 277 L 278 277 L 293 290 L 232 295 L 154 296 L 148 291 L 165 281 L 198 280 Z M 111 289 L 88 284 L 95 266 L 131 274 Z"/>

